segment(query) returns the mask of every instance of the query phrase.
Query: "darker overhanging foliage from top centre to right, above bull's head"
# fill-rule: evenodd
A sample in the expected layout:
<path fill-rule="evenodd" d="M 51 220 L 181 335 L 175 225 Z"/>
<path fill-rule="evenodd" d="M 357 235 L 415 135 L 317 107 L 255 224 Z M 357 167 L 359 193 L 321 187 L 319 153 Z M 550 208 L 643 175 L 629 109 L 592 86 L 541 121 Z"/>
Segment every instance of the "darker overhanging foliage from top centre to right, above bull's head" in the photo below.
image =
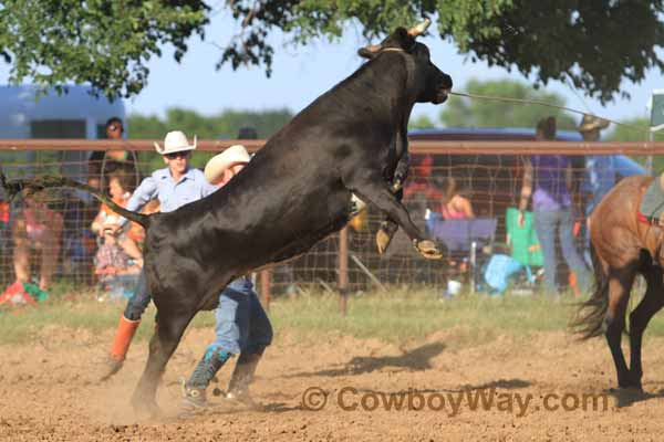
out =
<path fill-rule="evenodd" d="M 609 101 L 622 80 L 640 81 L 650 67 L 664 70 L 663 0 L 239 0 L 229 3 L 241 34 L 224 60 L 271 62 L 266 36 L 282 29 L 297 43 L 334 38 L 359 22 L 367 39 L 435 15 L 442 39 L 489 65 L 516 67 L 546 84 L 571 82 Z M 623 95 L 627 95 L 623 92 Z"/>

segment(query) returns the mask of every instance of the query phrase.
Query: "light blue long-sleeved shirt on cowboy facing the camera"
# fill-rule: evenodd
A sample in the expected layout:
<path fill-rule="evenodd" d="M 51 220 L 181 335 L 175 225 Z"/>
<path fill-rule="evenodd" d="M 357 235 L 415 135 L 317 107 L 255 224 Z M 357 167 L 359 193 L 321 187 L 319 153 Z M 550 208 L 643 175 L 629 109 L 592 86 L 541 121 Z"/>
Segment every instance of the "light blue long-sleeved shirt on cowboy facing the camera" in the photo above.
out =
<path fill-rule="evenodd" d="M 129 198 L 126 209 L 135 212 L 151 200 L 158 198 L 162 204 L 159 211 L 172 212 L 180 206 L 207 197 L 217 189 L 218 187 L 210 185 L 198 169 L 189 168 L 179 181 L 175 182 L 170 170 L 166 167 L 155 170 L 141 182 Z M 122 224 L 125 222 L 126 219 L 123 219 Z"/>

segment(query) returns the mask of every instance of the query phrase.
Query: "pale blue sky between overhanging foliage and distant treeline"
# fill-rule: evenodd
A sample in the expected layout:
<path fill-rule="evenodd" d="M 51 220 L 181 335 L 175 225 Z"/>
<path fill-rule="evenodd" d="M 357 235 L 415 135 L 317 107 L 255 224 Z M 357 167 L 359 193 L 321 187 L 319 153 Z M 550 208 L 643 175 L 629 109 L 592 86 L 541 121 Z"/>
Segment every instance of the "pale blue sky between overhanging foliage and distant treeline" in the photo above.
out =
<path fill-rule="evenodd" d="M 340 41 L 314 41 L 297 48 L 288 45 L 288 39 L 278 33 L 270 38 L 276 51 L 271 77 L 257 66 L 232 71 L 230 65 L 224 65 L 216 71 L 215 64 L 222 52 L 220 46 L 235 31 L 237 24 L 221 10 L 206 29 L 206 42 L 197 35 L 189 40 L 189 51 L 180 64 L 173 59 L 173 51 L 164 48 L 160 59 L 149 61 L 147 86 L 136 97 L 125 99 L 127 113 L 163 116 L 169 107 L 189 108 L 205 115 L 229 108 L 260 110 L 288 107 L 299 112 L 352 74 L 363 62 L 356 51 L 366 44 L 354 29 L 349 29 Z M 455 91 L 461 92 L 470 78 L 527 81 L 513 70 L 508 73 L 484 62 L 473 63 L 469 57 L 458 54 L 453 43 L 435 35 L 435 31 L 419 41 L 428 45 L 434 64 L 453 77 Z M 0 82 L 6 83 L 7 76 L 7 66 L 0 65 Z M 664 88 L 664 75 L 652 71 L 641 84 L 624 83 L 622 87 L 631 94 L 631 98 L 618 98 L 605 106 L 560 82 L 550 82 L 546 90 L 563 95 L 570 107 L 611 119 L 624 119 L 647 115 L 646 103 L 651 92 Z M 440 125 L 440 106 L 417 104 L 413 116 L 426 114 Z"/>

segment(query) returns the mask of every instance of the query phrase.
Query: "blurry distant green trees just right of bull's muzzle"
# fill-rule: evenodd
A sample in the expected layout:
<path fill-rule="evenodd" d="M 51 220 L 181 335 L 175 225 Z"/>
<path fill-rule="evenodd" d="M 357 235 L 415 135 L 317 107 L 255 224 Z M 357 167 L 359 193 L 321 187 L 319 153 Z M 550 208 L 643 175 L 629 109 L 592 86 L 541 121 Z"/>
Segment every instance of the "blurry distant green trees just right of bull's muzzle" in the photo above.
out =
<path fill-rule="evenodd" d="M 480 82 L 469 80 L 464 90 L 470 94 L 535 99 L 564 106 L 558 94 L 537 91 L 523 82 L 497 80 Z M 506 103 L 489 99 L 471 99 L 450 96 L 440 112 L 440 122 L 448 127 L 526 127 L 535 128 L 537 122 L 548 115 L 558 119 L 559 129 L 573 130 L 574 118 L 563 110 L 540 105 Z"/>

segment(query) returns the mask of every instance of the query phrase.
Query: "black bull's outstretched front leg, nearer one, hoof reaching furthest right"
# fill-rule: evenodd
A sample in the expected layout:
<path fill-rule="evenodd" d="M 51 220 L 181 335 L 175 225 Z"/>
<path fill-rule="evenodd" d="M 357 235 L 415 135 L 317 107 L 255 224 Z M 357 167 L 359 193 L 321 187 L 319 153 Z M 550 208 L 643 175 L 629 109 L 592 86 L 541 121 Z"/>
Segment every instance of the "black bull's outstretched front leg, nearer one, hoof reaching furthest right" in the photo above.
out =
<path fill-rule="evenodd" d="M 381 173 L 372 170 L 354 170 L 343 178 L 347 189 L 360 196 L 364 201 L 373 202 L 385 212 L 390 220 L 395 221 L 408 235 L 417 251 L 427 259 L 440 259 L 443 253 L 438 245 L 426 238 L 411 220 L 408 212 L 392 192 Z"/>

